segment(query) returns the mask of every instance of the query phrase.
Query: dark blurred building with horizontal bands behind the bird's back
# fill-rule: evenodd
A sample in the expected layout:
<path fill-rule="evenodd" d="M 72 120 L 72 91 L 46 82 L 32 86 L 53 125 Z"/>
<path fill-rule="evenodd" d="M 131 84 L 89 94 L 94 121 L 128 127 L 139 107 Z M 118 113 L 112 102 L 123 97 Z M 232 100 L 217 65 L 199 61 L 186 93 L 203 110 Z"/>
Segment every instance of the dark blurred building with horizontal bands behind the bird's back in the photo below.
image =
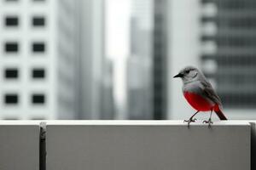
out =
<path fill-rule="evenodd" d="M 256 2 L 201 0 L 202 66 L 232 118 L 255 118 Z"/>

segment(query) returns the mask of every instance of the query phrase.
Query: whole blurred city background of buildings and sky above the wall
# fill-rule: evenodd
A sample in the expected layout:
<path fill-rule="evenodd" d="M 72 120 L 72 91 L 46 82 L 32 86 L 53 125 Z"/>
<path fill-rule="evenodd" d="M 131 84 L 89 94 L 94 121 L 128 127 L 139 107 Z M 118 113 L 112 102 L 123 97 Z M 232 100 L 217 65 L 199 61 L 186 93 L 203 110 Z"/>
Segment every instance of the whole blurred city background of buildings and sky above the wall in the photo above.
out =
<path fill-rule="evenodd" d="M 188 119 L 186 65 L 255 119 L 255 29 L 254 0 L 0 0 L 0 119 Z"/>

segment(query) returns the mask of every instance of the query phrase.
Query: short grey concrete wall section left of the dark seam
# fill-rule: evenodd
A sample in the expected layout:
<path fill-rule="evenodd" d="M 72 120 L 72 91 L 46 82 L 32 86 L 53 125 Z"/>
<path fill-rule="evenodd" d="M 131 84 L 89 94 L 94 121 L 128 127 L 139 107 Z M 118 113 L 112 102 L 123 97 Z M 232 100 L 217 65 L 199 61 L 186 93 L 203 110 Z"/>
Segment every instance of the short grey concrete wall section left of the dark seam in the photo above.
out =
<path fill-rule="evenodd" d="M 36 122 L 0 122 L 0 169 L 39 169 L 39 133 Z"/>

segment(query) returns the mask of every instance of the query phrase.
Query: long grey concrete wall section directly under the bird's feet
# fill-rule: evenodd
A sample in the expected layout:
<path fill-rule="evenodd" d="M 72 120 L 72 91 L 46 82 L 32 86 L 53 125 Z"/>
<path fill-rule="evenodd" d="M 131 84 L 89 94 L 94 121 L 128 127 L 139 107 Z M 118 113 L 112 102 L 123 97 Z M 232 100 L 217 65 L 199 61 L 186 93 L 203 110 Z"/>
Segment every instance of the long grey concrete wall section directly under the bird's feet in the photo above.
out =
<path fill-rule="evenodd" d="M 132 125 L 132 126 L 131 126 Z M 248 122 L 46 122 L 48 170 L 250 169 Z"/>

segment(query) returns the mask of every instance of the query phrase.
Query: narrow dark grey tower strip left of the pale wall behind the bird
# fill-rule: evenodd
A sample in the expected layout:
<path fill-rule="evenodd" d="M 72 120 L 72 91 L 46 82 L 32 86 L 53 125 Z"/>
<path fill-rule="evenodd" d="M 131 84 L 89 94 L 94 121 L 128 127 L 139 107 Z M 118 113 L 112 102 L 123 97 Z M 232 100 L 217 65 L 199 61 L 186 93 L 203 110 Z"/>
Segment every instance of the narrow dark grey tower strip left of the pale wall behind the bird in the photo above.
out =
<path fill-rule="evenodd" d="M 153 114 L 166 119 L 167 102 L 167 1 L 154 0 L 153 47 Z"/>

